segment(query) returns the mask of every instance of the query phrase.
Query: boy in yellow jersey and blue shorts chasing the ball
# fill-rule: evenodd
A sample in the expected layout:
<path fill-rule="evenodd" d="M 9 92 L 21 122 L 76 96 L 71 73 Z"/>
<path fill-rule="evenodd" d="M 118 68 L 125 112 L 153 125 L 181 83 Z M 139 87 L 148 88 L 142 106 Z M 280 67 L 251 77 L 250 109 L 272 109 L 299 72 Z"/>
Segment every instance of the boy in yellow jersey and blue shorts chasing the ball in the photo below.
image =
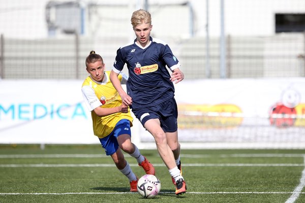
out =
<path fill-rule="evenodd" d="M 137 192 L 138 178 L 121 150 L 136 158 L 146 174 L 155 175 L 155 168 L 131 142 L 133 118 L 130 109 L 122 104 L 121 97 L 110 82 L 110 72 L 105 72 L 103 58 L 95 51 L 91 51 L 86 58 L 86 70 L 90 76 L 83 82 L 81 90 L 85 104 L 91 111 L 94 134 L 106 155 L 111 156 L 118 170 L 129 179 L 130 191 Z M 121 75 L 119 80 L 123 80 Z"/>

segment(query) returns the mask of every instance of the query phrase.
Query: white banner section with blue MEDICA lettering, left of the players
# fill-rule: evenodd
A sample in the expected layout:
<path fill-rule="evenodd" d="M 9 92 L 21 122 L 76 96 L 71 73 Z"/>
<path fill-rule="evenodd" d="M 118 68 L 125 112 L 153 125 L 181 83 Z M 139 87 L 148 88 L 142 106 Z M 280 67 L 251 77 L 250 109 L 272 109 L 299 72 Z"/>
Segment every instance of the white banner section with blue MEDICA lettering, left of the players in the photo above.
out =
<path fill-rule="evenodd" d="M 82 81 L 0 81 L 0 143 L 92 144 Z"/>

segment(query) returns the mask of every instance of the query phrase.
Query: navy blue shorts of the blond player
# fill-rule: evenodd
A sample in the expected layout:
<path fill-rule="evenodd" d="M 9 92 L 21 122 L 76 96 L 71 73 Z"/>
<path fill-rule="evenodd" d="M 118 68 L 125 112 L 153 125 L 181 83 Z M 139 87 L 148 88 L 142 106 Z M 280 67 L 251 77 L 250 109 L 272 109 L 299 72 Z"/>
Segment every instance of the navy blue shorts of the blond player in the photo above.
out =
<path fill-rule="evenodd" d="M 174 97 L 153 107 L 133 108 L 132 112 L 143 126 L 147 120 L 158 118 L 164 132 L 175 132 L 178 129 L 178 110 Z"/>

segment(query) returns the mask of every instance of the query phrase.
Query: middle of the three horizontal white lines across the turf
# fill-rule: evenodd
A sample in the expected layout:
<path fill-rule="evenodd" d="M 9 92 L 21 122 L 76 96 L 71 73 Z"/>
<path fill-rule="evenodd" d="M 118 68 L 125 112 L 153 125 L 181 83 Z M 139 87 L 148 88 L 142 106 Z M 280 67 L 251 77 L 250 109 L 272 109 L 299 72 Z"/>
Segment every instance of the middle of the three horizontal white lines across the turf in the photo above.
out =
<path fill-rule="evenodd" d="M 183 166 L 234 166 L 234 167 L 270 167 L 270 166 L 304 166 L 304 163 L 184 163 Z M 130 164 L 130 166 L 138 166 L 138 164 Z M 165 166 L 164 163 L 155 163 L 154 166 Z M 93 163 L 93 164 L 0 164 L 0 167 L 115 167 L 115 164 Z"/>

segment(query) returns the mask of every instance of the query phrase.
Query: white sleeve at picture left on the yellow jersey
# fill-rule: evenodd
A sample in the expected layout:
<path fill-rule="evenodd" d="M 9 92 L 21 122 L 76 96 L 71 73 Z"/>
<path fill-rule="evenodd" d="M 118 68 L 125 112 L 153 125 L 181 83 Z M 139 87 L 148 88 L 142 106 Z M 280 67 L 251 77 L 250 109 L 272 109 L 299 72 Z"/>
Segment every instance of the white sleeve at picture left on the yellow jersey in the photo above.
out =
<path fill-rule="evenodd" d="M 97 107 L 102 106 L 100 99 L 94 92 L 94 89 L 90 86 L 83 86 L 81 88 L 82 95 L 89 111 L 93 111 Z"/>

